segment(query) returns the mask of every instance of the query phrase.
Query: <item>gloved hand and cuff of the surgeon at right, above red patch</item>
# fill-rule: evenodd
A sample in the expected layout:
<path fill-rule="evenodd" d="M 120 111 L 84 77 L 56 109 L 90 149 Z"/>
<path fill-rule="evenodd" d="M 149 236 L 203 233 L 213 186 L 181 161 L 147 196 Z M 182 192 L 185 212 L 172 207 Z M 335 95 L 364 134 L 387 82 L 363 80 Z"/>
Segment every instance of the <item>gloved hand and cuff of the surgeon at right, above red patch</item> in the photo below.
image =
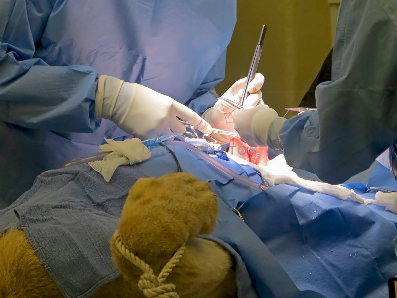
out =
<path fill-rule="evenodd" d="M 233 120 L 235 130 L 248 145 L 283 150 L 278 134 L 286 119 L 279 117 L 272 108 L 261 105 L 236 110 Z"/>

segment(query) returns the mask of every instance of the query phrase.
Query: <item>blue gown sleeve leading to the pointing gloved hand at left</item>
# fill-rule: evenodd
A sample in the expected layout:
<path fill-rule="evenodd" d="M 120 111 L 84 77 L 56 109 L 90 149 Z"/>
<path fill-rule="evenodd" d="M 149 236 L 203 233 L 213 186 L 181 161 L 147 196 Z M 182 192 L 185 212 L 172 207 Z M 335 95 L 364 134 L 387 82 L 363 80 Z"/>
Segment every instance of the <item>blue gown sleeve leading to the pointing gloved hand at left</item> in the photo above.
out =
<path fill-rule="evenodd" d="M 0 2 L 0 120 L 39 130 L 93 132 L 97 72 L 34 58 L 50 0 Z"/>

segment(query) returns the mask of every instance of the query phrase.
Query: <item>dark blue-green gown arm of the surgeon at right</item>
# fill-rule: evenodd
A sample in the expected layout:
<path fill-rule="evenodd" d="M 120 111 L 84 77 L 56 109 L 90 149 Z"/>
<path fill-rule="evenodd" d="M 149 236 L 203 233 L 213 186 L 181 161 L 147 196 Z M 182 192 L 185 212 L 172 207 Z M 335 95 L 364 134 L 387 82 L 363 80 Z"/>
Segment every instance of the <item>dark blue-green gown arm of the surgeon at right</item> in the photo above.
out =
<path fill-rule="evenodd" d="M 288 164 L 342 183 L 397 139 L 397 2 L 342 0 L 332 79 L 316 88 L 317 111 L 284 122 Z"/>

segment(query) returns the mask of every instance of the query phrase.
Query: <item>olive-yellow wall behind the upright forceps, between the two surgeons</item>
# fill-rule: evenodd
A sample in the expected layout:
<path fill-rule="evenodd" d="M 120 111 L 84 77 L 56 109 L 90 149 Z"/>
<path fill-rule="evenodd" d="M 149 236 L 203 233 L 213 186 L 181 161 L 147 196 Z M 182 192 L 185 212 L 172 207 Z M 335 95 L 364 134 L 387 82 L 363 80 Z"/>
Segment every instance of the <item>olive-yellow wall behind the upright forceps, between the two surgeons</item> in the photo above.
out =
<path fill-rule="evenodd" d="M 268 30 L 257 71 L 266 78 L 262 98 L 280 116 L 285 114 L 286 107 L 297 106 L 331 49 L 328 2 L 238 0 L 237 23 L 227 48 L 226 75 L 216 86 L 218 94 L 247 76 L 262 25 L 266 24 Z"/>

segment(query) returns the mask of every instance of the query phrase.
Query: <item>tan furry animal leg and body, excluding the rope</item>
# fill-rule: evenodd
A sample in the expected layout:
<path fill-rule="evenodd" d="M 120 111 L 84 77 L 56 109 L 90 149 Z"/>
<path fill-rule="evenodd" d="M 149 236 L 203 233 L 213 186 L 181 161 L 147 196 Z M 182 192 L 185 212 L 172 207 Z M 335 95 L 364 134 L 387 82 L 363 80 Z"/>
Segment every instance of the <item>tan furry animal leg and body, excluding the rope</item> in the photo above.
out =
<path fill-rule="evenodd" d="M 216 243 L 197 237 L 214 230 L 217 214 L 210 185 L 191 174 L 141 178 L 129 192 L 118 231 L 125 246 L 148 263 L 156 276 L 186 243 L 182 258 L 166 280 L 175 284 L 180 298 L 235 297 L 233 257 Z M 121 256 L 113 238 L 110 246 L 121 275 L 92 297 L 144 298 L 137 287 L 142 271 Z M 63 296 L 25 233 L 9 230 L 0 238 L 0 298 L 39 297 Z"/>

